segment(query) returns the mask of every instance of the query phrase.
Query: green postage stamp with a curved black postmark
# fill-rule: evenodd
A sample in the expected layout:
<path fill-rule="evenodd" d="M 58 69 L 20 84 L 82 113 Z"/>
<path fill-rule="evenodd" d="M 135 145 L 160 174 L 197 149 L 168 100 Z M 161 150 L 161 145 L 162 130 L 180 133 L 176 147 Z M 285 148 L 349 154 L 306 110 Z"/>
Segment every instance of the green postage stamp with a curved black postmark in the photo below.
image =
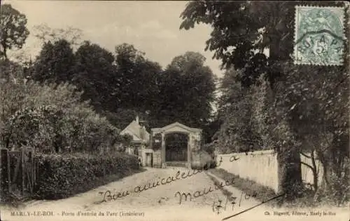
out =
<path fill-rule="evenodd" d="M 343 64 L 344 13 L 339 7 L 295 7 L 295 64 Z"/>

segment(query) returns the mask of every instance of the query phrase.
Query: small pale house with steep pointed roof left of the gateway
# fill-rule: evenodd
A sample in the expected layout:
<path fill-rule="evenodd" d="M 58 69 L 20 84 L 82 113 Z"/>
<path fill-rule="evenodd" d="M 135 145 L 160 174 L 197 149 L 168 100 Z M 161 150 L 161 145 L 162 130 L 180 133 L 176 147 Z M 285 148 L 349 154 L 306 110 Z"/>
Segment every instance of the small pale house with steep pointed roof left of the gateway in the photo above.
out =
<path fill-rule="evenodd" d="M 140 156 L 141 163 L 143 162 L 142 149 L 146 149 L 150 141 L 150 133 L 147 132 L 145 126 L 141 126 L 139 116 L 134 119 L 129 125 L 120 132 L 120 135 L 129 134 L 132 136 L 130 146 L 125 149 L 128 154 Z M 142 163 L 144 166 L 144 163 Z"/>

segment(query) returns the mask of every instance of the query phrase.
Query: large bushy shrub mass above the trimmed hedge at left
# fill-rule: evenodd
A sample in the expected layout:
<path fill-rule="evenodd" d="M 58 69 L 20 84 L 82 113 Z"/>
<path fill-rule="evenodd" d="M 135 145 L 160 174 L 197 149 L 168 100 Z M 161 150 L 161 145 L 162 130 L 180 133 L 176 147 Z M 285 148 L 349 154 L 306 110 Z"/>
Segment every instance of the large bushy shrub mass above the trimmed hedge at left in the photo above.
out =
<path fill-rule="evenodd" d="M 36 152 L 97 152 L 113 147 L 118 128 L 80 102 L 81 93 L 65 84 L 0 82 L 0 136 L 4 147 L 29 145 Z"/>

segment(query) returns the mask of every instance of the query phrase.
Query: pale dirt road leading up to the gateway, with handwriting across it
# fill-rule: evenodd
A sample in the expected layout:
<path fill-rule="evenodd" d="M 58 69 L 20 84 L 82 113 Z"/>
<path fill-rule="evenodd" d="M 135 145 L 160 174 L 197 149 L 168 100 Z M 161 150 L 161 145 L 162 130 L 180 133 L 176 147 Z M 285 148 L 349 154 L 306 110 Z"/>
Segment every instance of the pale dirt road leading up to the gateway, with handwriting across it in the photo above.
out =
<path fill-rule="evenodd" d="M 225 180 L 221 180 L 221 182 L 225 185 Z M 162 183 L 166 184 L 162 185 Z M 145 185 L 146 187 L 144 187 Z M 147 189 L 150 186 L 151 188 Z M 233 193 L 233 196 L 237 197 L 233 208 L 230 201 L 226 203 L 227 198 L 223 195 L 223 192 L 215 188 L 214 182 L 207 172 L 193 174 L 193 170 L 187 170 L 186 168 L 149 168 L 143 173 L 137 173 L 117 182 L 111 182 L 108 185 L 78 194 L 69 199 L 33 201 L 28 203 L 25 208 L 17 210 L 3 208 L 1 210 L 1 221 L 222 220 L 224 217 L 239 213 L 260 203 L 253 198 L 245 199 L 244 194 L 234 187 L 228 187 L 228 189 Z M 102 201 L 106 191 L 111 191 L 112 198 L 113 194 L 116 194 L 115 199 Z M 100 192 L 103 194 L 100 194 Z M 117 197 L 117 192 L 120 192 L 119 196 L 121 197 Z M 123 194 L 124 196 L 122 196 Z M 180 203 L 180 194 L 191 194 L 192 199 L 188 196 L 186 201 L 185 195 L 183 195 Z M 222 201 L 223 206 L 226 203 L 226 210 L 221 208 L 219 214 L 213 211 L 213 203 L 215 202 L 218 205 L 218 200 Z M 272 215 L 264 215 L 265 211 L 269 211 Z M 306 211 L 309 213 L 309 210 Z M 43 212 L 47 212 L 47 215 L 43 215 Z M 278 212 L 282 211 L 278 210 Z M 290 221 L 320 220 L 322 218 L 288 217 L 286 215 L 273 215 L 273 213 L 274 210 L 259 206 L 237 217 L 232 217 L 230 220 Z M 329 220 L 330 217 L 326 218 Z"/>

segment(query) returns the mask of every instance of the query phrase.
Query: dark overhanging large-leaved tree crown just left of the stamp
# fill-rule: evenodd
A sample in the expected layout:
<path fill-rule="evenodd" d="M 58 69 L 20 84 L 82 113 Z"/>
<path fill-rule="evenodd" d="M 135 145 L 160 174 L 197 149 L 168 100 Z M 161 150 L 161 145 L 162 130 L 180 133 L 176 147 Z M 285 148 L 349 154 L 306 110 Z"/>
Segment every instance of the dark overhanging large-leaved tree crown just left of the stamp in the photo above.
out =
<path fill-rule="evenodd" d="M 191 1 L 181 13 L 181 29 L 195 24 L 213 27 L 206 50 L 222 60 L 224 68 L 244 69 L 241 82 L 250 86 L 266 73 L 269 83 L 281 76 L 281 62 L 293 50 L 296 5 L 344 6 L 336 1 Z M 269 57 L 264 50 L 269 50 Z"/>

